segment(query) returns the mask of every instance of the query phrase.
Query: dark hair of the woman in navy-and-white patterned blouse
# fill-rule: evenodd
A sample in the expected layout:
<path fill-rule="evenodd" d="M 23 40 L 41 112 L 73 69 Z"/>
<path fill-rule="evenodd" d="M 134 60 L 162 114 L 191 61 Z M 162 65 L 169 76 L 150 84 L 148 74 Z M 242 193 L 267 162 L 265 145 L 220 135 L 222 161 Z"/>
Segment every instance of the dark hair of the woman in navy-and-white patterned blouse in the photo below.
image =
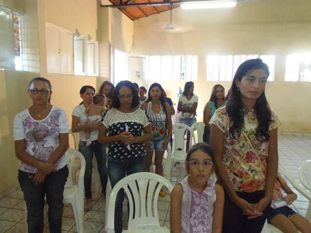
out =
<path fill-rule="evenodd" d="M 116 85 L 116 88 L 113 92 L 112 95 L 112 107 L 113 108 L 119 108 L 120 107 L 120 100 L 119 100 L 119 91 L 121 89 L 122 86 L 126 86 L 127 88 L 131 89 L 132 91 L 132 95 L 133 95 L 133 101 L 131 104 L 132 108 L 137 108 L 139 106 L 139 97 L 138 97 L 138 92 L 137 92 L 137 88 L 135 87 L 135 85 L 130 82 L 130 81 L 121 81 Z"/>

